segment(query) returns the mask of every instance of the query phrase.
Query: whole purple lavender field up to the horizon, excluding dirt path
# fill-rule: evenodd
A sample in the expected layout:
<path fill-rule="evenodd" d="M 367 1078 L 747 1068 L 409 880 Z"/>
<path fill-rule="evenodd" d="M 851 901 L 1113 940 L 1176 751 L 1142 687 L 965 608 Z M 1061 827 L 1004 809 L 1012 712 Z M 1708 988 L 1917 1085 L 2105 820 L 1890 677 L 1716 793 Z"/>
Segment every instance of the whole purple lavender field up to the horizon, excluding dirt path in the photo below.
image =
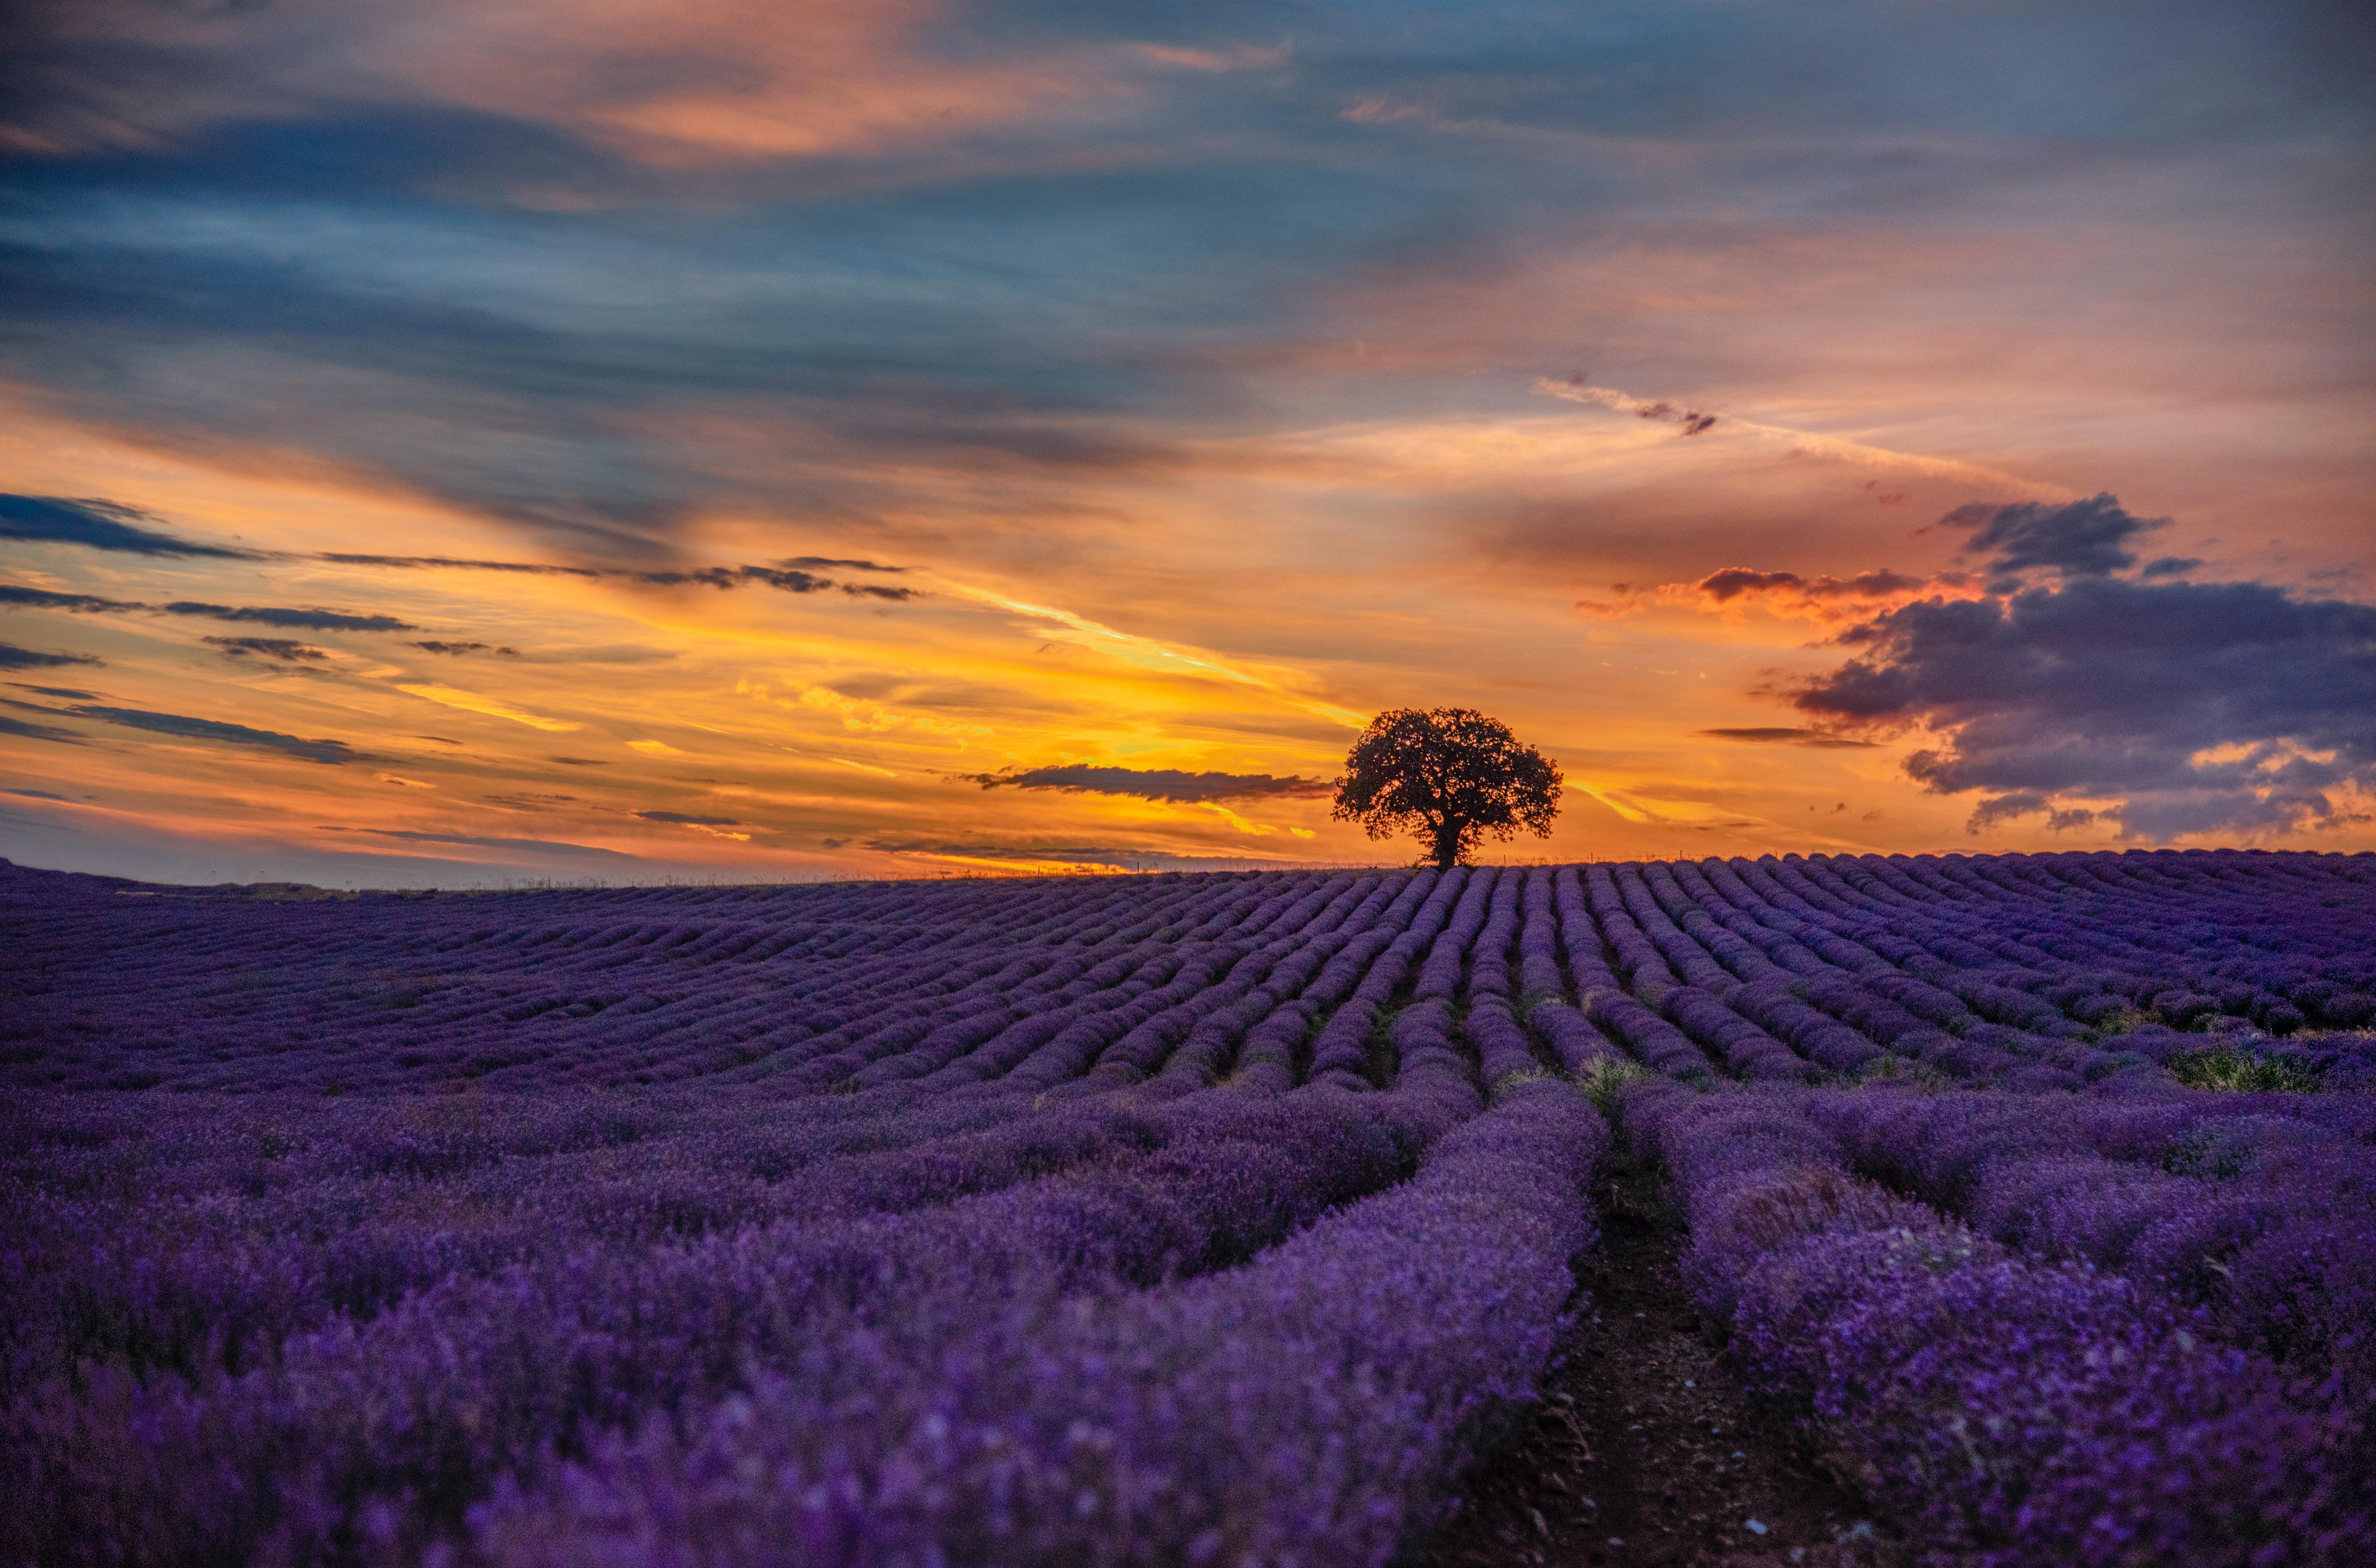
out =
<path fill-rule="evenodd" d="M 7 1566 L 1435 1561 L 1613 1162 L 1872 1525 L 1506 1561 L 2376 1561 L 2369 855 L 0 898 Z"/>

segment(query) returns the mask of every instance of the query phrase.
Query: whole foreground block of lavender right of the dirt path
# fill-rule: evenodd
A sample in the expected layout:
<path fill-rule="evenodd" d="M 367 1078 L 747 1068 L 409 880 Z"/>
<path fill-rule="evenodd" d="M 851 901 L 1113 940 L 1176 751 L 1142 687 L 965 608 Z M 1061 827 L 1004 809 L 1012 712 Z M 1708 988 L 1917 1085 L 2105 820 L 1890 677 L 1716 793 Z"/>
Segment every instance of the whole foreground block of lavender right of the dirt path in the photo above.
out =
<path fill-rule="evenodd" d="M 1623 1095 L 1685 1276 L 1927 1563 L 2376 1554 L 2376 1105 Z"/>

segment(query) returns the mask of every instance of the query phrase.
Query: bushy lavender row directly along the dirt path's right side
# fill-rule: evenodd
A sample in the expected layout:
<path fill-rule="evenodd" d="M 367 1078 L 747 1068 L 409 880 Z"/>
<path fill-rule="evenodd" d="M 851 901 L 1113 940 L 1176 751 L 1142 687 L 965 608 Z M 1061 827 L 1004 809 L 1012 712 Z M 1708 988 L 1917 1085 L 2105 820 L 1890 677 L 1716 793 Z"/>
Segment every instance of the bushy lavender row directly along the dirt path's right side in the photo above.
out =
<path fill-rule="evenodd" d="M 2084 1264 L 1846 1169 L 1799 1095 L 1625 1095 L 1675 1171 L 1687 1273 L 1751 1387 L 1808 1411 L 1939 1563 L 2350 1563 L 2366 1433 L 2333 1385 L 2219 1347 Z"/>

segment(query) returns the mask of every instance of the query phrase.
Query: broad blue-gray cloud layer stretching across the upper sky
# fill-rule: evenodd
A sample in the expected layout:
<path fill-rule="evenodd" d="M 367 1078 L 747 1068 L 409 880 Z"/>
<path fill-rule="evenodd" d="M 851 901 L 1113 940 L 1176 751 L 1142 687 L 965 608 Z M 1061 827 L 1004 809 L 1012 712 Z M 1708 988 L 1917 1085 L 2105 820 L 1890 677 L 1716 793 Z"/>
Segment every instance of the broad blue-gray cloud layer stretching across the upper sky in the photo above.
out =
<path fill-rule="evenodd" d="M 1944 211 L 2122 157 L 2257 183 L 2257 154 L 2205 154 L 2364 145 L 2369 119 L 2343 67 L 2366 21 L 2321 0 L 1521 2 L 1456 21 L 1017 0 L 948 7 L 934 52 L 1276 57 L 1150 69 L 1093 128 L 1053 112 L 656 169 L 575 128 L 611 114 L 530 121 L 356 71 L 385 7 L 238 7 L 204 45 L 140 0 L 33 10 L 57 26 L 14 40 L 0 114 L 59 152 L 0 169 L 26 214 L 0 245 L 14 380 L 164 444 L 307 451 L 618 561 L 663 561 L 720 504 L 858 527 L 896 511 L 848 478 L 867 463 L 753 478 L 670 435 L 675 411 L 732 406 L 910 470 L 1162 468 L 1195 442 L 1157 430 L 1271 406 L 1245 368 L 1347 280 L 1475 276 L 1578 223 Z M 670 43 L 606 57 L 601 93 L 765 71 L 732 26 Z M 368 95 L 333 86 L 361 76 Z M 618 309 L 663 292 L 665 311 Z"/>

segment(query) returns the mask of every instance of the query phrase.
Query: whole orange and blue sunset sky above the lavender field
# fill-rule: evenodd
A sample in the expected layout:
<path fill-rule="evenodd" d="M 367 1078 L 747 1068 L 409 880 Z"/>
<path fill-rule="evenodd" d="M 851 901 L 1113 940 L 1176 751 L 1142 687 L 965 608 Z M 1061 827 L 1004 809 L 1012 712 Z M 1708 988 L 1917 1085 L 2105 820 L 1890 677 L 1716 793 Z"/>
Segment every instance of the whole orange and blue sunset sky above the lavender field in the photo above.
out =
<path fill-rule="evenodd" d="M 2376 848 L 2362 5 L 10 26 L 12 860 Z"/>

